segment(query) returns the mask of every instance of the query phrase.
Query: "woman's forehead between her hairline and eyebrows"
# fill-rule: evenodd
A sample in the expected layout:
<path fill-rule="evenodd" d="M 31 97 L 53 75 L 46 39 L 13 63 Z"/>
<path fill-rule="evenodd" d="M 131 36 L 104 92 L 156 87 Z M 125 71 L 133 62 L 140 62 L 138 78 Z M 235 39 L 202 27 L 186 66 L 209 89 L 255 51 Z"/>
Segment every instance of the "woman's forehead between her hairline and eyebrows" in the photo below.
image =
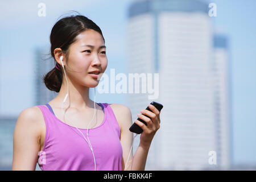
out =
<path fill-rule="evenodd" d="M 92 46 L 99 47 L 104 45 L 104 40 L 99 32 L 86 30 L 76 36 L 76 42 L 74 44 L 76 44 L 76 46 L 90 44 Z"/>

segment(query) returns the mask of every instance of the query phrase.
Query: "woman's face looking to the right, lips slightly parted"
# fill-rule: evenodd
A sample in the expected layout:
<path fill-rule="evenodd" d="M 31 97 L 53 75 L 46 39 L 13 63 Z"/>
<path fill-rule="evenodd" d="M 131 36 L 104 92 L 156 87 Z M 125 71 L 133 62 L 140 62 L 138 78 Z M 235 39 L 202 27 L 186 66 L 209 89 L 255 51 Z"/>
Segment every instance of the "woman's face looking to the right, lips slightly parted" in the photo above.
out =
<path fill-rule="evenodd" d="M 97 86 L 98 78 L 89 72 L 97 70 L 104 73 L 108 65 L 106 47 L 101 34 L 89 29 L 77 35 L 76 41 L 69 46 L 67 64 L 65 71 L 67 69 L 66 74 L 72 81 L 90 88 Z"/>

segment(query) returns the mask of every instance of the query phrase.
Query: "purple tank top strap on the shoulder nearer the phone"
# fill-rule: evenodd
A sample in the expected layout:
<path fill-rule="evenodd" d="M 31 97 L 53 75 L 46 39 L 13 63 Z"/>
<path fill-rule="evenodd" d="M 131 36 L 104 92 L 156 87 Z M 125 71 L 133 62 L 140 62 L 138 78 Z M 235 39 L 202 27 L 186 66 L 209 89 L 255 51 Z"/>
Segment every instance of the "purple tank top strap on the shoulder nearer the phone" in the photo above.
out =
<path fill-rule="evenodd" d="M 112 107 L 108 103 L 101 103 L 101 104 L 104 105 L 105 114 L 108 115 L 108 122 L 110 123 L 110 125 L 112 125 L 114 132 L 120 138 L 120 127 L 118 125 L 117 118 L 115 118 L 115 114 Z"/>

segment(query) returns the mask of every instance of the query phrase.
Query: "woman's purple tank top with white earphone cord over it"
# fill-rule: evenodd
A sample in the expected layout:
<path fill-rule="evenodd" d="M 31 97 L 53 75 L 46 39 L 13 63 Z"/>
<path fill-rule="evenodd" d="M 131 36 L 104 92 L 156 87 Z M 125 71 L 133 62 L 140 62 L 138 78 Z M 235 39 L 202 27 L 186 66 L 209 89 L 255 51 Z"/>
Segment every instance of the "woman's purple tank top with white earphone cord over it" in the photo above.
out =
<path fill-rule="evenodd" d="M 100 103 L 98 105 L 104 110 L 104 120 L 100 126 L 88 131 L 96 161 L 96 170 L 121 171 L 123 151 L 117 119 L 109 104 Z M 92 151 L 76 127 L 60 121 L 48 104 L 49 108 L 44 105 L 37 106 L 42 111 L 46 122 L 46 138 L 43 149 L 38 154 L 39 167 L 47 171 L 93 171 Z M 79 130 L 87 139 L 87 129 L 79 128 Z"/>

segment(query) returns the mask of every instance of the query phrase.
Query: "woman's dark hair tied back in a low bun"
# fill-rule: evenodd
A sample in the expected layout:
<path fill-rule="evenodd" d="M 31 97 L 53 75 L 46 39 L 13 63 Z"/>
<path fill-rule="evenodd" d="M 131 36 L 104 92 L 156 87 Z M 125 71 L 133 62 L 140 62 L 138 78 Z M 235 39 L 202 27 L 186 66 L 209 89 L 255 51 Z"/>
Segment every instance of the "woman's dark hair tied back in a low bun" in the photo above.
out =
<path fill-rule="evenodd" d="M 61 50 L 68 57 L 69 46 L 75 42 L 76 36 L 81 32 L 92 29 L 99 32 L 104 40 L 100 27 L 97 26 L 92 20 L 88 19 L 83 15 L 70 15 L 65 18 L 58 20 L 52 27 L 50 41 L 51 41 L 51 56 L 55 60 L 53 51 L 56 48 L 61 48 Z M 68 58 L 67 58 L 68 60 Z M 56 61 L 56 60 L 55 60 Z M 57 62 L 56 62 L 57 64 Z M 60 92 L 60 87 L 63 80 L 63 68 L 61 65 L 57 64 L 57 69 L 54 67 L 45 76 L 43 76 L 43 82 L 49 90 Z"/>

